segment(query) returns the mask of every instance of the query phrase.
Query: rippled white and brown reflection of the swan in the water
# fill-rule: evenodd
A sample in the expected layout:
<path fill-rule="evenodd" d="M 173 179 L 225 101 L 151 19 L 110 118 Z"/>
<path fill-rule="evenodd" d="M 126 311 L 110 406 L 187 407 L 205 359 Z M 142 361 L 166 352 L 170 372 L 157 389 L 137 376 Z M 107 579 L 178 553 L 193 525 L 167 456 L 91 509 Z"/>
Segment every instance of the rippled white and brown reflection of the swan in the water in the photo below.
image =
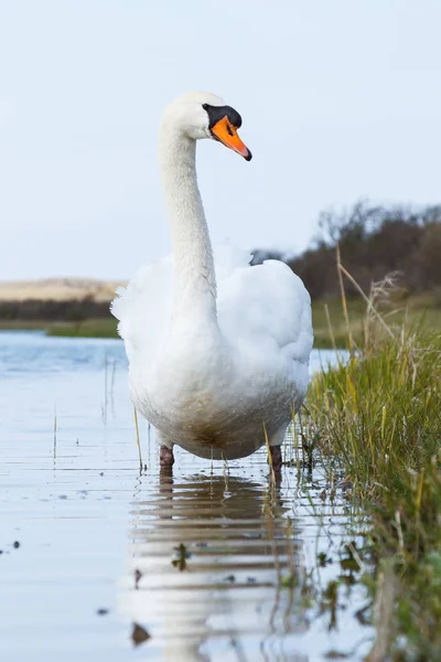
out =
<path fill-rule="evenodd" d="M 146 658 L 306 660 L 292 648 L 306 627 L 295 590 L 280 588 L 301 566 L 292 504 L 240 477 L 151 480 L 133 502 L 123 594 L 125 611 L 151 636 Z"/>

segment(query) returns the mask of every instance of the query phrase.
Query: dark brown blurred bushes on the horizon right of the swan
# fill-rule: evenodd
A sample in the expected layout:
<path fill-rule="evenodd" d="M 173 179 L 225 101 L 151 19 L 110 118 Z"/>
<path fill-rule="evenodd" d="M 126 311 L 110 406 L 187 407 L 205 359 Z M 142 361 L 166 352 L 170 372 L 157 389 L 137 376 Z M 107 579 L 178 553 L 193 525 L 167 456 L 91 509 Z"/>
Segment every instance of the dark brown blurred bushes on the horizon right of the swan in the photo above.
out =
<path fill-rule="evenodd" d="M 251 264 L 282 259 L 312 298 L 331 299 L 338 296 L 337 245 L 343 266 L 365 291 L 394 274 L 406 290 L 434 290 L 441 299 L 441 205 L 417 209 L 361 201 L 343 212 L 326 211 L 302 254 L 284 259 L 280 252 L 258 249 Z M 345 281 L 345 288 L 349 296 L 356 293 L 351 282 Z"/>

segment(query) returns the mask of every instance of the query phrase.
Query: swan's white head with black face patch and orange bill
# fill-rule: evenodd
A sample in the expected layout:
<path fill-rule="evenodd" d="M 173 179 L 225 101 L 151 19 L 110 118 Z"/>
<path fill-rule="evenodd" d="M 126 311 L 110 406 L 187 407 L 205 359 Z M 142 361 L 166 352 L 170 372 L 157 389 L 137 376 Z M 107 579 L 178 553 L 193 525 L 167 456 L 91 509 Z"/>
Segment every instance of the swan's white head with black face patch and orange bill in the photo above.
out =
<path fill-rule="evenodd" d="M 217 140 L 246 161 L 252 158 L 237 134 L 241 126 L 240 115 L 209 92 L 190 92 L 179 97 L 165 108 L 163 122 L 173 124 L 193 140 Z"/>

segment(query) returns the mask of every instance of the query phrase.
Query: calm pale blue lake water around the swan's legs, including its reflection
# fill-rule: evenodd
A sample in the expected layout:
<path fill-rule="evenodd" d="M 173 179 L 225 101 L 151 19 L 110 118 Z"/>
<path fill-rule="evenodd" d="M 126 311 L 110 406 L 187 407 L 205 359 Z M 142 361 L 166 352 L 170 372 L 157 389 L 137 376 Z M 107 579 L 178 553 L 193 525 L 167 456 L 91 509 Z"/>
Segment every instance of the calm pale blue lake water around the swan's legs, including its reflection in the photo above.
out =
<path fill-rule="evenodd" d="M 120 341 L 0 332 L 0 660 L 362 660 L 363 588 L 335 623 L 300 588 L 341 573 L 349 508 L 323 496 L 324 470 L 284 467 L 275 491 L 263 451 L 178 450 L 170 476 L 140 435 L 142 472 Z"/>

